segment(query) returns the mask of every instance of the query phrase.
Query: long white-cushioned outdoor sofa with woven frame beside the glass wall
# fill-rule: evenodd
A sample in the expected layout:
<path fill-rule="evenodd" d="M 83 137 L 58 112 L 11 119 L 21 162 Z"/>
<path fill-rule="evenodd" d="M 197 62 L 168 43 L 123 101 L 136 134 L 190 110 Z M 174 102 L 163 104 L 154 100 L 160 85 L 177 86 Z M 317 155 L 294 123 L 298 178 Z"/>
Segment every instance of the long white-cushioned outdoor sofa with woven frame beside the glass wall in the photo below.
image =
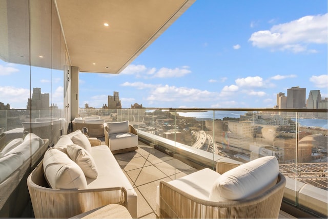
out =
<path fill-rule="evenodd" d="M 36 218 L 69 218 L 108 204 L 137 217 L 137 194 L 114 155 L 100 140 L 90 142 L 77 130 L 46 151 L 27 179 Z"/>

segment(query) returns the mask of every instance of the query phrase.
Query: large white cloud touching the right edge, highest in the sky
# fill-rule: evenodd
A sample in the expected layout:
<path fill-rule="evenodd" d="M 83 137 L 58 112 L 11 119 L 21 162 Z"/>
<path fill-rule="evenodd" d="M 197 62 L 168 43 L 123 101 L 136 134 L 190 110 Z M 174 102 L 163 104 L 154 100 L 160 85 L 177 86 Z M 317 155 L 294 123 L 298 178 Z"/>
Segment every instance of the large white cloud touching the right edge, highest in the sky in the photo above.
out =
<path fill-rule="evenodd" d="M 270 30 L 253 33 L 249 39 L 253 46 L 270 48 L 272 51 L 292 51 L 295 53 L 310 51 L 308 44 L 327 43 L 328 14 L 304 16 L 298 20 L 274 25 Z"/>

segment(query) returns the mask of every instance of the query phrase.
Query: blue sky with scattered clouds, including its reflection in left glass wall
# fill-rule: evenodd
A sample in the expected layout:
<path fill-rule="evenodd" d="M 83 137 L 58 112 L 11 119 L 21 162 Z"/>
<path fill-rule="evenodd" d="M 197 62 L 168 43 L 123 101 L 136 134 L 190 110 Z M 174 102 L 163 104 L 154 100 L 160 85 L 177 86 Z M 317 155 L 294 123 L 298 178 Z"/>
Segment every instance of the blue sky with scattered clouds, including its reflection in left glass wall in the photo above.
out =
<path fill-rule="evenodd" d="M 294 86 L 327 97 L 327 24 L 326 0 L 197 0 L 119 75 L 80 73 L 79 106 L 100 108 L 114 91 L 123 108 L 272 108 Z M 26 108 L 29 87 L 6 81 L 22 68 L 0 61 L 0 102 Z M 62 106 L 63 73 L 52 74 L 52 87 L 44 74 L 32 87 Z"/>

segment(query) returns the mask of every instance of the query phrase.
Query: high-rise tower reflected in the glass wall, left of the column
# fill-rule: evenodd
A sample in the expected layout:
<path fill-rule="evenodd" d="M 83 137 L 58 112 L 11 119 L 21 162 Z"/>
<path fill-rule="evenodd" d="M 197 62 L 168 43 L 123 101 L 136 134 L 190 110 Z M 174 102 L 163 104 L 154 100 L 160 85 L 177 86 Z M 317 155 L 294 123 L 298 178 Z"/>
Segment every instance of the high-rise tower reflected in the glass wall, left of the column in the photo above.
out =
<path fill-rule="evenodd" d="M 50 109 L 49 93 L 41 93 L 41 88 L 33 88 L 32 98 L 27 102 L 27 109 Z"/>

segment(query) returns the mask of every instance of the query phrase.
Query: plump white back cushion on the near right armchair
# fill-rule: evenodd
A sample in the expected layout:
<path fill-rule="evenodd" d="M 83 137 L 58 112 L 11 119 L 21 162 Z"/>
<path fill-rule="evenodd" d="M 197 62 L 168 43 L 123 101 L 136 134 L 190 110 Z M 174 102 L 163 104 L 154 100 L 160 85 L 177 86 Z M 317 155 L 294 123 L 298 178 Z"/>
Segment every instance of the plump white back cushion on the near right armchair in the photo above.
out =
<path fill-rule="evenodd" d="M 257 158 L 223 173 L 213 184 L 210 201 L 238 201 L 258 195 L 277 183 L 275 156 Z"/>

